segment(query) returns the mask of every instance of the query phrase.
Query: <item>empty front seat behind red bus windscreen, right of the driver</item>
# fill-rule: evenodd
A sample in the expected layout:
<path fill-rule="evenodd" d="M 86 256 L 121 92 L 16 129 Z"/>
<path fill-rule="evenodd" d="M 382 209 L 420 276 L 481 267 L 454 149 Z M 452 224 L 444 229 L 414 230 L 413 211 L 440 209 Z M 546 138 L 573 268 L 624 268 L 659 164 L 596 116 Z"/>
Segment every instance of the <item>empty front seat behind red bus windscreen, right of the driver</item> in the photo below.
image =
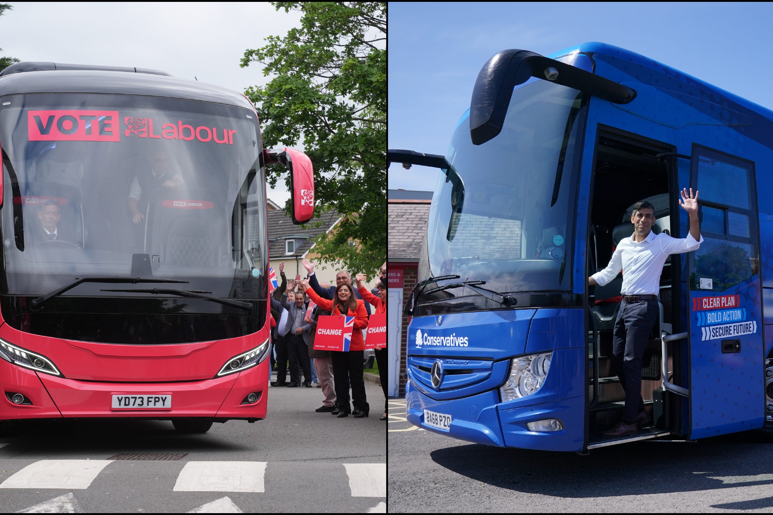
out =
<path fill-rule="evenodd" d="M 180 195 L 182 193 L 182 196 Z M 182 198 L 212 202 L 213 208 L 179 208 L 169 202 Z M 211 190 L 185 188 L 183 191 L 157 190 L 149 199 L 145 252 L 158 256 L 160 263 L 186 266 L 218 266 L 219 251 L 226 246 L 228 235 L 216 228 L 209 213 L 222 208 Z M 223 238 L 225 237 L 225 239 Z M 223 240 L 223 241 L 221 241 Z"/>

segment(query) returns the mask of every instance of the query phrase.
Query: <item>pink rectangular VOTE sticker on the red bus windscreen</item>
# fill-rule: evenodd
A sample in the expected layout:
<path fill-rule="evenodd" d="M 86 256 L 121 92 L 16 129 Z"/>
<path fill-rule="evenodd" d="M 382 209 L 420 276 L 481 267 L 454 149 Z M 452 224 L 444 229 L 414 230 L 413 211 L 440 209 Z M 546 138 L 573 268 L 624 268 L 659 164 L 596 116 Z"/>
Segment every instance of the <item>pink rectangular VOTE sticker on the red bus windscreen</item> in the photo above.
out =
<path fill-rule="evenodd" d="M 118 111 L 27 112 L 29 141 L 118 141 Z"/>

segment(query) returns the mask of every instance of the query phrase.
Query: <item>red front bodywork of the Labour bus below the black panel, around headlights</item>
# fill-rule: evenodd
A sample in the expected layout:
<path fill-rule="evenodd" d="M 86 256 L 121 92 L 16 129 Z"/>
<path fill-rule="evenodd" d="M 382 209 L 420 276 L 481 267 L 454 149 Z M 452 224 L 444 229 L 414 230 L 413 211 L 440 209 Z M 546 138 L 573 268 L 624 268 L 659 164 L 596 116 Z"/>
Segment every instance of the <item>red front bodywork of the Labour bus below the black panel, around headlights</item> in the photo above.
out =
<path fill-rule="evenodd" d="M 271 316 L 271 315 L 269 315 Z M 269 337 L 257 333 L 228 340 L 170 345 L 115 345 L 24 333 L 3 324 L 0 337 L 48 357 L 63 378 L 0 360 L 0 420 L 64 417 L 265 418 L 270 360 L 215 378 L 231 357 Z M 15 405 L 6 392 L 32 405 Z M 241 401 L 257 393 L 258 401 Z M 171 409 L 114 409 L 112 395 L 172 395 Z"/>

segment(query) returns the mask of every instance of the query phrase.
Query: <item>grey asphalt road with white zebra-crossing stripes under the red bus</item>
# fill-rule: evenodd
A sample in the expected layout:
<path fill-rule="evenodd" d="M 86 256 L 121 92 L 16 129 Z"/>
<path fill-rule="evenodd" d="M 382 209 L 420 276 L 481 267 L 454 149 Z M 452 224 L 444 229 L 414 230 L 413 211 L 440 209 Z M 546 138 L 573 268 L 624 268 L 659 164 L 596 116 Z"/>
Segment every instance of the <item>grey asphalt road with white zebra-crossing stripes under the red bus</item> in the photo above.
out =
<path fill-rule="evenodd" d="M 0 438 L 0 512 L 383 512 L 383 392 L 369 381 L 366 392 L 369 418 L 335 418 L 314 411 L 319 388 L 269 388 L 265 420 L 203 435 L 163 421 L 39 424 Z M 187 454 L 108 460 L 124 452 Z"/>

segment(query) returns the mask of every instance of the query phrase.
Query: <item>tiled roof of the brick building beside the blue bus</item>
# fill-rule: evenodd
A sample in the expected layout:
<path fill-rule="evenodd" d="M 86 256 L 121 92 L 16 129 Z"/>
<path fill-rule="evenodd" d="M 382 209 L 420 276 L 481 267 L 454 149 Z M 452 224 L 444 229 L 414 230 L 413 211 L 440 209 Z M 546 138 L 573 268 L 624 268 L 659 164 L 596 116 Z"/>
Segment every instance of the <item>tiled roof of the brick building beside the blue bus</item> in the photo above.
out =
<path fill-rule="evenodd" d="M 419 259 L 430 205 L 390 202 L 388 206 L 389 259 Z"/>

